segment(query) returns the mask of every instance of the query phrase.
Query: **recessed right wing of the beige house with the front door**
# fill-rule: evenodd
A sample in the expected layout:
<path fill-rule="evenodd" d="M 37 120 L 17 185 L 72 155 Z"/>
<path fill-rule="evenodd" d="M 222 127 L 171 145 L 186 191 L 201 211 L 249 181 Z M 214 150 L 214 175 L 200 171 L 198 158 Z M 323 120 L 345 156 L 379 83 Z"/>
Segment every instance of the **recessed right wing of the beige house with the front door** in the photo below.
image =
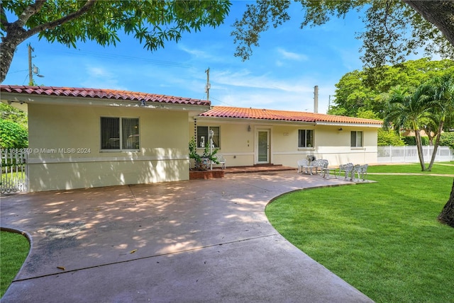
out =
<path fill-rule="evenodd" d="M 309 154 L 330 166 L 377 162 L 380 120 L 319 113 L 214 106 L 191 119 L 197 146 L 214 131 L 214 147 L 228 166 L 297 166 Z"/>

